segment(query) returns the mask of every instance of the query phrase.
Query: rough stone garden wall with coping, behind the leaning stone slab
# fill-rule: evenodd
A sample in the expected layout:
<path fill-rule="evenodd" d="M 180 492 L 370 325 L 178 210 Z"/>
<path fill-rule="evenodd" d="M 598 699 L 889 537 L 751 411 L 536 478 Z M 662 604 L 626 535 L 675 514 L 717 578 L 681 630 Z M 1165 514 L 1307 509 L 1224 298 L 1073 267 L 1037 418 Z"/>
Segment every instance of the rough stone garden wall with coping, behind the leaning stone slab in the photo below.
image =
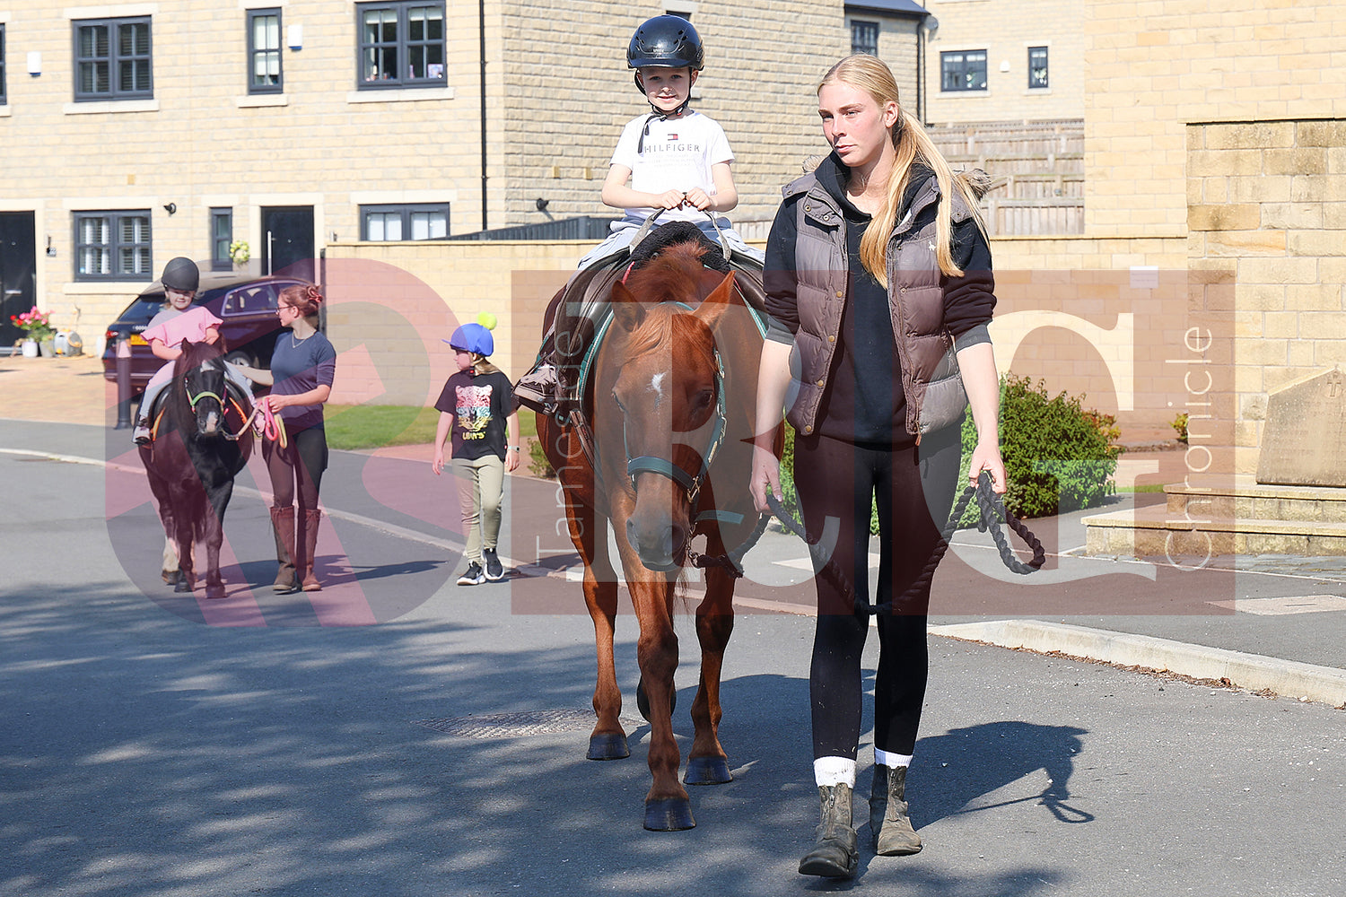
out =
<path fill-rule="evenodd" d="M 1194 272 L 1229 285 L 1237 472 L 1267 394 L 1346 363 L 1346 120 L 1187 128 Z"/>

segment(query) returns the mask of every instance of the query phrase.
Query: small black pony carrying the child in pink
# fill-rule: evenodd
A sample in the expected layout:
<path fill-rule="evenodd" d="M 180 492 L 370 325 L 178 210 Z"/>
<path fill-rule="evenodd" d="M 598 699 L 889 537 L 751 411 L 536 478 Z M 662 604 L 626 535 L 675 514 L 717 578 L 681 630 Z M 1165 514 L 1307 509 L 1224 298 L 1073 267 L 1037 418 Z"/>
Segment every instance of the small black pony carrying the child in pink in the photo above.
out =
<path fill-rule="evenodd" d="M 140 446 L 149 491 L 159 519 L 178 553 L 176 592 L 195 585 L 192 546 L 206 546 L 206 597 L 225 597 L 219 576 L 219 546 L 225 538 L 225 508 L 234 491 L 234 475 L 252 455 L 252 433 L 244 429 L 246 412 L 227 393 L 222 343 L 183 343 L 174 362 L 172 385 L 162 393 L 155 413 L 155 438 Z M 168 580 L 166 565 L 166 580 Z"/>

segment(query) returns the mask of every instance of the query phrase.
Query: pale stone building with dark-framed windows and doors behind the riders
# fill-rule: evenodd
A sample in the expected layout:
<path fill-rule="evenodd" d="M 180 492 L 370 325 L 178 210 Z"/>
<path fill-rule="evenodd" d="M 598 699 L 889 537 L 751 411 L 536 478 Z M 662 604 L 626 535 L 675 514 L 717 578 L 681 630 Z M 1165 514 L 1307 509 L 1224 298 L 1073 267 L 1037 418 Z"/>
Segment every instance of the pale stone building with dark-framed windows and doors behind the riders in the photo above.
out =
<path fill-rule="evenodd" d="M 840 0 L 3 3 L 0 343 L 32 304 L 101 335 L 164 261 L 227 268 L 236 242 L 267 270 L 611 214 L 608 155 L 646 108 L 626 43 L 665 11 L 707 43 L 695 97 L 735 148 L 735 218 L 766 221 L 824 148 Z"/>

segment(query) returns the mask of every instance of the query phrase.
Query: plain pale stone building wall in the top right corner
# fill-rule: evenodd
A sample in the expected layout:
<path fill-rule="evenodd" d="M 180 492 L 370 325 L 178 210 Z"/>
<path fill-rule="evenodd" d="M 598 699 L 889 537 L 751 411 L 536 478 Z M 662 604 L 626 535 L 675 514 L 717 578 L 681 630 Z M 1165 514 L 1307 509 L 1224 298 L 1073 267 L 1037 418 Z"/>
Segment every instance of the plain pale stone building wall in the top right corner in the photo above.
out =
<path fill-rule="evenodd" d="M 1085 225 L 1184 235 L 1187 125 L 1346 117 L 1346 5 L 1092 0 Z"/>

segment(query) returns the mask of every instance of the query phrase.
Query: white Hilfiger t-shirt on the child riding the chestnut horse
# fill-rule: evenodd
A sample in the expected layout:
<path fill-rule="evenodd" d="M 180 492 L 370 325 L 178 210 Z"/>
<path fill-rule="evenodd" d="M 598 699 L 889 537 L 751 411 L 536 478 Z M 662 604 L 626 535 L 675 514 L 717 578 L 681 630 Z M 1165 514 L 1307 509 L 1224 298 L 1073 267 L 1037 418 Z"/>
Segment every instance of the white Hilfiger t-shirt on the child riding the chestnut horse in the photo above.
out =
<path fill-rule="evenodd" d="M 645 134 L 645 151 L 635 152 L 641 143 L 645 122 L 650 122 L 650 133 Z M 715 195 L 715 178 L 711 167 L 734 161 L 730 141 L 709 116 L 688 109 L 677 118 L 650 118 L 637 116 L 616 141 L 612 151 L 614 165 L 631 169 L 631 190 L 643 194 L 662 194 L 666 190 L 684 192 L 700 187 L 708 196 Z M 627 208 L 627 215 L 649 218 L 653 208 Z M 670 208 L 660 215 L 660 223 L 670 221 L 705 221 L 705 212 L 696 208 Z"/>

